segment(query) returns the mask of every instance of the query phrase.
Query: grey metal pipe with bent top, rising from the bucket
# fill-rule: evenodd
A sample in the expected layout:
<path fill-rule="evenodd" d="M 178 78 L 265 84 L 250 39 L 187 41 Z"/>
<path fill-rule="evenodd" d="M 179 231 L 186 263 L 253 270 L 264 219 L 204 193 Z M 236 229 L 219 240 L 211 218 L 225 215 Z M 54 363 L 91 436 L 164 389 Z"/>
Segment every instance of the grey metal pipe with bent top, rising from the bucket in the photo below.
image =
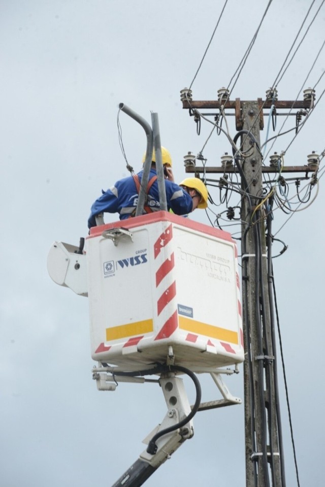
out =
<path fill-rule="evenodd" d="M 140 192 L 139 192 L 138 204 L 136 209 L 136 216 L 139 216 L 142 215 L 143 213 L 143 207 L 146 201 L 146 190 L 149 181 L 149 173 L 151 168 L 152 151 L 153 151 L 152 128 L 144 118 L 142 118 L 140 115 L 134 112 L 127 105 L 124 105 L 124 103 L 120 103 L 118 108 L 122 110 L 122 112 L 126 113 L 126 115 L 129 115 L 131 118 L 136 120 L 136 122 L 140 123 L 147 136 L 146 158 L 143 165 L 143 175 L 141 178 Z"/>

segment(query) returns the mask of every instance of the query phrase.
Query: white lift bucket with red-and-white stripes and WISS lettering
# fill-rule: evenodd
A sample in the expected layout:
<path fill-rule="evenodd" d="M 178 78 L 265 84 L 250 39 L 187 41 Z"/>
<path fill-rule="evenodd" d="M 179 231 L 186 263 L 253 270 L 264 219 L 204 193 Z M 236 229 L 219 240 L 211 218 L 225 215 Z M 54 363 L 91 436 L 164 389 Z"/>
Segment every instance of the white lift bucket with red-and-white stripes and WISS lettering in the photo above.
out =
<path fill-rule="evenodd" d="M 86 260 L 95 361 L 140 370 L 172 349 L 194 372 L 243 362 L 229 233 L 159 211 L 92 228 Z"/>

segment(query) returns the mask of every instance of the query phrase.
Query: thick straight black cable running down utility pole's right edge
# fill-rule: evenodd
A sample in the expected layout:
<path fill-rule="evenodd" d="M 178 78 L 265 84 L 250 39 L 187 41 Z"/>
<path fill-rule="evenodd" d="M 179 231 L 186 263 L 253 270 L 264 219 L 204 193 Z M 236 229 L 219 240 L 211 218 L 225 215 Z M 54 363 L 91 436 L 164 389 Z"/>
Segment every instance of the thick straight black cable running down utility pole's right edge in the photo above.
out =
<path fill-rule="evenodd" d="M 271 340 L 272 340 L 272 352 L 274 356 L 273 360 L 273 374 L 274 374 L 274 398 L 275 409 L 278 425 L 278 442 L 279 442 L 279 454 L 280 454 L 280 468 L 281 468 L 281 483 L 282 487 L 285 487 L 285 469 L 284 469 L 284 452 L 283 452 L 283 440 L 282 440 L 282 424 L 281 424 L 281 411 L 279 400 L 279 386 L 278 386 L 278 368 L 277 368 L 277 355 L 276 355 L 276 341 L 275 341 L 275 320 L 273 310 L 273 266 L 272 266 L 272 218 L 270 214 L 267 217 L 268 225 L 268 286 L 269 286 L 269 300 L 270 300 L 270 321 L 271 321 Z"/>

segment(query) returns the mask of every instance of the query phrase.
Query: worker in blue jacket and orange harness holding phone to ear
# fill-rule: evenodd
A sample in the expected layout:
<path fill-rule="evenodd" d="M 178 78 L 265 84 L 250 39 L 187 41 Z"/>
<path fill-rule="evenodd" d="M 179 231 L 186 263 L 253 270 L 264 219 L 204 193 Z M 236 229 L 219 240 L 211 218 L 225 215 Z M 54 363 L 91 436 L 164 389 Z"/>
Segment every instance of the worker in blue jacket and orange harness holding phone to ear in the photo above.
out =
<path fill-rule="evenodd" d="M 146 154 L 143 156 L 143 163 L 145 161 L 145 156 Z M 199 204 L 202 204 L 201 193 L 199 193 L 195 187 L 188 191 L 186 186 L 180 187 L 174 182 L 172 158 L 165 147 L 161 147 L 161 158 L 164 166 L 168 210 L 172 209 L 177 215 L 190 213 L 196 209 Z M 160 210 L 155 163 L 155 153 L 153 152 L 143 214 Z M 91 213 L 88 218 L 88 228 L 96 225 L 95 217 L 103 212 L 118 212 L 121 220 L 135 216 L 142 176 L 143 170 L 135 176 L 120 179 L 107 191 L 102 190 L 102 196 L 91 206 Z"/>

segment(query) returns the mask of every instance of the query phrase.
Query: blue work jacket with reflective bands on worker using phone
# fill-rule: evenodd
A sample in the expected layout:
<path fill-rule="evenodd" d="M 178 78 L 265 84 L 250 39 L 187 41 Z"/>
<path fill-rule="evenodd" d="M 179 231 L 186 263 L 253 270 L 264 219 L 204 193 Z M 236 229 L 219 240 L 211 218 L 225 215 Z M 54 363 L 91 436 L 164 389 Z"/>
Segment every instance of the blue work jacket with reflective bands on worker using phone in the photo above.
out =
<path fill-rule="evenodd" d="M 138 173 L 140 180 L 142 175 L 143 171 L 140 171 L 140 173 Z M 156 170 L 151 169 L 149 181 L 156 175 Z M 186 215 L 192 211 L 192 199 L 183 188 L 168 179 L 165 179 L 165 187 L 168 210 L 172 209 L 176 215 Z M 134 214 L 139 194 L 132 176 L 120 179 L 110 189 L 107 191 L 102 190 L 102 192 L 102 196 L 91 206 L 91 213 L 88 218 L 88 228 L 96 225 L 95 216 L 103 212 L 119 213 L 120 220 L 129 218 L 130 215 Z M 146 205 L 153 211 L 160 210 L 157 180 L 149 189 Z M 144 210 L 143 214 L 145 213 L 146 211 Z"/>

